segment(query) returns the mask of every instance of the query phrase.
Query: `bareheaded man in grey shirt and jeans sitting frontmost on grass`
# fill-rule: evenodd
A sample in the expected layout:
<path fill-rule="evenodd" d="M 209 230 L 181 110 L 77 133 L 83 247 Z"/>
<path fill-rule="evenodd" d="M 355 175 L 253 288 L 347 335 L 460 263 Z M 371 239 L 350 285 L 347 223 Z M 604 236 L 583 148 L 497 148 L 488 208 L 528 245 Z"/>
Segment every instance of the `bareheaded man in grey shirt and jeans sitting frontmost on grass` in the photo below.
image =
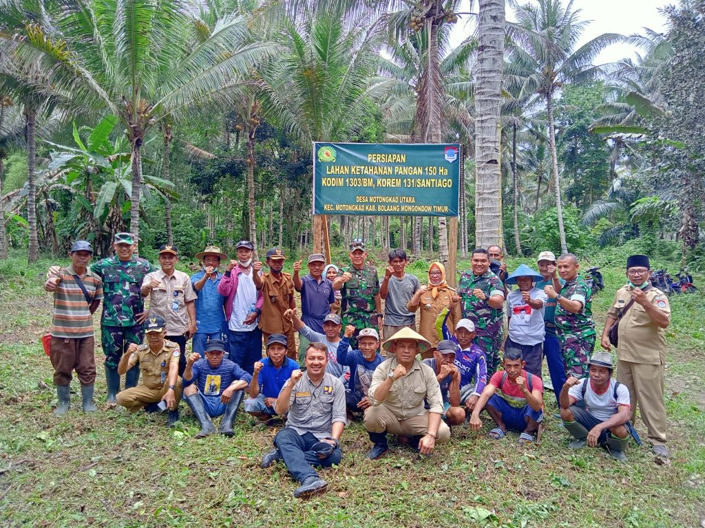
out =
<path fill-rule="evenodd" d="M 321 493 L 328 483 L 312 466 L 331 467 L 341 461 L 338 441 L 345 427 L 345 386 L 326 372 L 328 353 L 322 343 L 306 349 L 306 372 L 294 370 L 279 393 L 274 410 L 287 412 L 286 427 L 274 437 L 275 448 L 262 458 L 262 467 L 283 460 L 300 486 L 294 496 Z"/>

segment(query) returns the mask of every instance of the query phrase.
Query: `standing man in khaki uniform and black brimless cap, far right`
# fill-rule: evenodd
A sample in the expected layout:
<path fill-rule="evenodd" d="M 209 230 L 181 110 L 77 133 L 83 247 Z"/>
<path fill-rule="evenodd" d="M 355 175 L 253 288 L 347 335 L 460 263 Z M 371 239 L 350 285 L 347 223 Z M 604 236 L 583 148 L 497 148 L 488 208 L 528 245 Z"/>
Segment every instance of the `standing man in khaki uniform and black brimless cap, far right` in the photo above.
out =
<path fill-rule="evenodd" d="M 649 430 L 646 437 L 655 455 L 668 457 L 663 369 L 666 363 L 665 330 L 670 323 L 668 298 L 649 281 L 649 257 L 627 258 L 626 286 L 617 290 L 607 312 L 601 346 L 612 349 L 610 329 L 618 326 L 617 381 L 627 386 L 632 401 L 632 423 L 637 403 Z"/>

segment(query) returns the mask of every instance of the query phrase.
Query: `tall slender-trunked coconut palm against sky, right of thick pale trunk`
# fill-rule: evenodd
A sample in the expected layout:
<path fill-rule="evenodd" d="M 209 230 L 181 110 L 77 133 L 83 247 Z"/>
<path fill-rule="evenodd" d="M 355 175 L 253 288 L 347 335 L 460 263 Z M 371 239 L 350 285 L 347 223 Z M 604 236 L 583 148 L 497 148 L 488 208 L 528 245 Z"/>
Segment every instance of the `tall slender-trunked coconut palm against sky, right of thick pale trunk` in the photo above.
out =
<path fill-rule="evenodd" d="M 548 146 L 555 181 L 560 249 L 563 253 L 568 252 L 568 244 L 563 228 L 553 99 L 563 84 L 603 75 L 603 70 L 592 64 L 594 58 L 606 46 L 624 38 L 620 34 L 605 33 L 575 49 L 587 21 L 580 20 L 580 9 L 573 11 L 572 4 L 573 0 L 568 1 L 566 6 L 560 0 L 538 0 L 537 3 L 523 5 L 514 3 L 517 22 L 508 24 L 514 36 L 513 44 L 510 44 L 510 61 L 531 73 L 525 77 L 521 94 L 539 94 L 546 101 Z"/>

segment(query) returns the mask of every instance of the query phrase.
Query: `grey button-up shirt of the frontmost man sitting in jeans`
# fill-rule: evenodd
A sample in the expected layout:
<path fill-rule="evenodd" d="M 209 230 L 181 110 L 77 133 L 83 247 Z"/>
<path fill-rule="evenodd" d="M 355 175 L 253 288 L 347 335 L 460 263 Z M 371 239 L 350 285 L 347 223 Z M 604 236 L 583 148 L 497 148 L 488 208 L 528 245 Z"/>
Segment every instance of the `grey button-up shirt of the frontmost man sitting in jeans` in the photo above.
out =
<path fill-rule="evenodd" d="M 317 439 L 329 437 L 333 422 L 345 423 L 345 386 L 328 372 L 314 385 L 304 372 L 291 391 L 289 405 L 286 427 L 298 434 L 311 432 Z"/>

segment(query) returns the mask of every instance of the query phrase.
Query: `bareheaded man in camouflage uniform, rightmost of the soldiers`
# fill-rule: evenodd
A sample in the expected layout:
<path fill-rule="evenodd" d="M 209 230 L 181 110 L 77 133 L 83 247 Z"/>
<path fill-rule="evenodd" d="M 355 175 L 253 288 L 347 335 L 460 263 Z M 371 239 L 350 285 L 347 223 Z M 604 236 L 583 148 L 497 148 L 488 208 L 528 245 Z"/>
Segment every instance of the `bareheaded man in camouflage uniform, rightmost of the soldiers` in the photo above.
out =
<path fill-rule="evenodd" d="M 558 275 L 565 280 L 560 294 L 552 285 L 544 287 L 548 298 L 556 299 L 556 337 L 563 353 L 565 370 L 578 379 L 587 376 L 587 360 L 595 348 L 595 323 L 592 320 L 592 289 L 577 274 L 580 265 L 572 253 L 556 262 Z"/>

